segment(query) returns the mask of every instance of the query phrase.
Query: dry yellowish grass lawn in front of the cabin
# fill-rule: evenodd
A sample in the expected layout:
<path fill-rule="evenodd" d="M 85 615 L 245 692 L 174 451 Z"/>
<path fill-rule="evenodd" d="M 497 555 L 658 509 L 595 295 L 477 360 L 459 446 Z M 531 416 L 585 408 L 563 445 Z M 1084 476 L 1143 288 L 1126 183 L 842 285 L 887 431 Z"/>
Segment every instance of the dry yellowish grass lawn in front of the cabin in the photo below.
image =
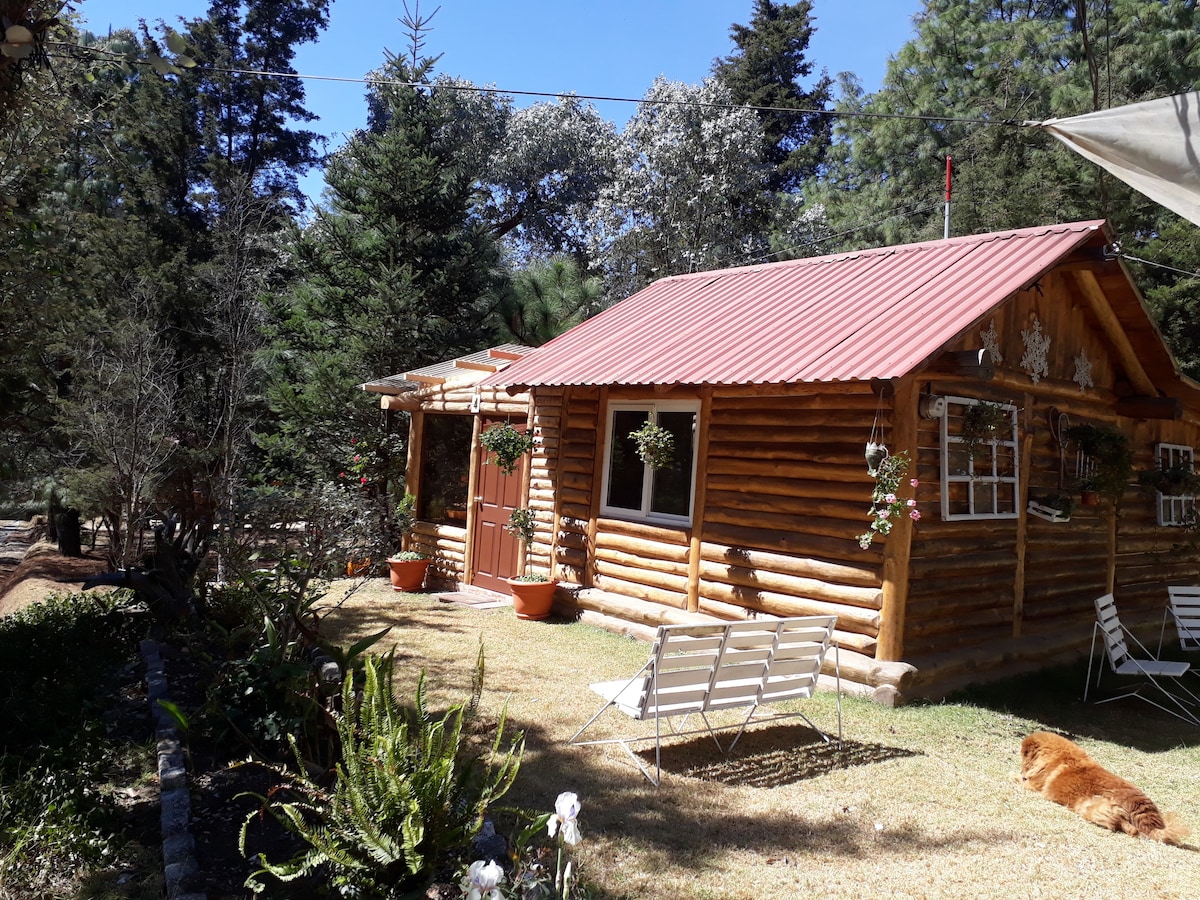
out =
<path fill-rule="evenodd" d="M 647 644 L 396 594 L 385 580 L 328 619 L 342 641 L 384 624 L 395 626 L 384 646 L 395 642 L 397 689 L 409 696 L 424 670 L 434 701 L 463 700 L 484 643 L 485 715 L 508 704 L 528 742 L 505 803 L 550 810 L 560 791 L 578 793 L 578 859 L 598 896 L 1200 896 L 1200 730 L 1136 701 L 1082 704 L 1082 668 L 962 702 L 884 709 L 844 698 L 841 751 L 799 719 L 758 726 L 730 758 L 708 738 L 679 739 L 655 788 L 619 746 L 565 743 L 599 708 L 588 683 L 631 676 Z M 800 708 L 835 730 L 832 695 Z M 1136 840 L 1024 791 L 1020 742 L 1038 730 L 1079 740 L 1198 834 L 1182 848 Z"/>

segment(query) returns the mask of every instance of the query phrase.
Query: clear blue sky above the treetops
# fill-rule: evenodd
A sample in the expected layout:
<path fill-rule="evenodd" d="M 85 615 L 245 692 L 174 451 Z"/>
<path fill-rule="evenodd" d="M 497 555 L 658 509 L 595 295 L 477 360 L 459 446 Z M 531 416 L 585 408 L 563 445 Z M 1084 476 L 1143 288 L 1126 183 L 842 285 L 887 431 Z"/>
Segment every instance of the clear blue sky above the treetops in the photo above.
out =
<path fill-rule="evenodd" d="M 438 8 L 440 6 L 440 8 Z M 553 91 L 637 98 L 659 74 L 697 83 L 713 59 L 732 50 L 730 25 L 748 23 L 751 0 L 422 0 L 431 22 L 426 52 L 443 54 L 437 71 L 506 90 Z M 196 18 L 208 0 L 79 0 L 86 26 L 104 34 L 179 17 Z M 409 0 L 409 8 L 414 0 Z M 808 59 L 830 74 L 854 72 L 866 90 L 878 88 L 888 56 L 912 37 L 923 0 L 814 0 L 816 34 Z M 398 0 L 334 0 L 330 24 L 316 44 L 300 48 L 302 74 L 360 78 L 383 61 L 384 49 L 403 53 Z M 330 149 L 366 120 L 364 86 L 307 82 L 307 106 L 319 118 L 310 127 Z M 532 102 L 532 101 L 530 101 Z M 596 103 L 618 125 L 632 103 Z M 319 192 L 319 174 L 304 184 Z"/>

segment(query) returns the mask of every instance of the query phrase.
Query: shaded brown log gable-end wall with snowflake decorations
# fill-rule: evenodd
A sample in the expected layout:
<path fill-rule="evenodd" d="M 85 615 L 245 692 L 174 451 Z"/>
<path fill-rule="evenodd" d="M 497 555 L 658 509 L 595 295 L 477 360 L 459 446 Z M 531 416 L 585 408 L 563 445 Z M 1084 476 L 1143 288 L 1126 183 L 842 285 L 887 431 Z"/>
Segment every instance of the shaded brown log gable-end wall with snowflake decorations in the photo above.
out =
<path fill-rule="evenodd" d="M 1021 366 L 1021 331 L 1032 330 L 1034 316 L 1042 332 L 1051 337 L 1049 373 L 1037 383 Z M 1045 276 L 997 311 L 994 322 L 1003 358 L 994 378 L 941 373 L 918 379 L 923 392 L 1018 406 L 1019 517 L 942 521 L 940 422 L 920 421 L 923 517 L 913 529 L 904 640 L 904 658 L 918 667 L 922 659 L 956 655 L 974 658 L 983 671 L 989 659 L 998 662 L 1010 654 L 1013 638 L 1044 648 L 1040 658 L 1027 662 L 1046 664 L 1062 659 L 1064 647 L 1086 642 L 1094 619 L 1093 600 L 1110 584 L 1122 614 L 1139 618 L 1163 608 L 1168 581 L 1200 581 L 1200 557 L 1194 550 L 1180 550 L 1178 529 L 1154 523 L 1153 496 L 1135 484 L 1115 508 L 1104 500 L 1098 506 L 1079 505 L 1074 457 L 1055 438 L 1060 422 L 1114 425 L 1129 437 L 1135 468 L 1150 468 L 1157 442 L 1200 446 L 1194 414 L 1183 421 L 1163 421 L 1130 420 L 1115 413 L 1118 392 L 1128 395 L 1129 380 L 1138 377 L 1114 360 L 1111 342 L 1069 272 Z M 991 324 L 989 317 L 949 349 L 982 347 L 982 331 Z M 1081 353 L 1091 365 L 1092 385 L 1076 380 Z M 1026 512 L 1030 496 L 1049 493 L 1075 497 L 1069 522 L 1046 522 Z M 995 649 L 1001 647 L 1007 649 Z"/>

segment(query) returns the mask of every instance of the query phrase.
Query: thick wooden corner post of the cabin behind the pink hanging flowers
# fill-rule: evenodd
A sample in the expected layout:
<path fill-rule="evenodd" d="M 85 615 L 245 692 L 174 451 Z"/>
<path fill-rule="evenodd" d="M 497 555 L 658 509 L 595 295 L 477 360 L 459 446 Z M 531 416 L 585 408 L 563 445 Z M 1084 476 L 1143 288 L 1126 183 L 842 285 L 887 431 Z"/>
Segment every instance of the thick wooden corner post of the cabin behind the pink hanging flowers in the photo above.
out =
<path fill-rule="evenodd" d="M 892 397 L 893 452 L 907 452 L 908 470 L 917 475 L 917 379 L 906 376 L 896 383 Z M 918 500 L 920 488 L 917 490 Z M 928 494 L 926 494 L 928 496 Z M 919 509 L 919 508 L 918 508 Z M 908 604 L 908 562 L 912 554 L 912 520 L 904 516 L 892 527 L 883 546 L 883 608 L 880 612 L 880 637 L 875 650 L 878 660 L 904 656 L 905 607 Z"/>

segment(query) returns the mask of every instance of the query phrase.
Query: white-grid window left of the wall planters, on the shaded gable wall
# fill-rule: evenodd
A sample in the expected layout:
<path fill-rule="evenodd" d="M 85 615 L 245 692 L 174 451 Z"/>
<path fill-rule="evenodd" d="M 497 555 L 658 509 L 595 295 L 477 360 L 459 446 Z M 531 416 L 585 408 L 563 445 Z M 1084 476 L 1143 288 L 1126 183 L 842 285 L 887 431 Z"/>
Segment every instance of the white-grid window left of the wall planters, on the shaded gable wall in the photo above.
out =
<path fill-rule="evenodd" d="M 942 413 L 942 518 L 1015 518 L 1020 479 L 1016 407 L 994 403 L 1002 421 L 974 448 L 962 436 L 967 409 L 983 401 L 947 397 Z"/>

